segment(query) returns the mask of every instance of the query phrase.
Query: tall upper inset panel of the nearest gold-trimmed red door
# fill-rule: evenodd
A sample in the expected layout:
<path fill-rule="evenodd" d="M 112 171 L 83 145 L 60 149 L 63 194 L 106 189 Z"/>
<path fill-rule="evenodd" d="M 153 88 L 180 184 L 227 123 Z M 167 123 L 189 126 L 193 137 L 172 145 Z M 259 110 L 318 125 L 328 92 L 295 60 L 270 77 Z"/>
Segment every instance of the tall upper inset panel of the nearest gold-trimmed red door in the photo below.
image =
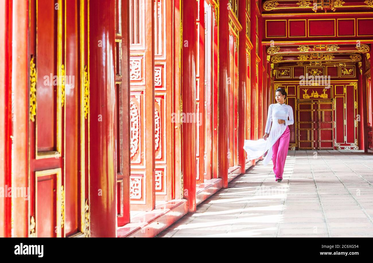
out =
<path fill-rule="evenodd" d="M 36 142 L 37 154 L 57 151 L 60 152 L 60 142 L 57 145 L 57 139 L 60 130 L 57 128 L 57 122 L 60 116 L 57 113 L 59 105 L 57 104 L 57 70 L 60 65 L 57 63 L 57 12 L 54 9 L 54 1 L 37 0 L 37 19 L 36 19 Z M 57 120 L 57 118 L 59 118 Z M 58 147 L 58 148 L 57 148 Z M 54 155 L 54 152 L 52 153 Z"/>

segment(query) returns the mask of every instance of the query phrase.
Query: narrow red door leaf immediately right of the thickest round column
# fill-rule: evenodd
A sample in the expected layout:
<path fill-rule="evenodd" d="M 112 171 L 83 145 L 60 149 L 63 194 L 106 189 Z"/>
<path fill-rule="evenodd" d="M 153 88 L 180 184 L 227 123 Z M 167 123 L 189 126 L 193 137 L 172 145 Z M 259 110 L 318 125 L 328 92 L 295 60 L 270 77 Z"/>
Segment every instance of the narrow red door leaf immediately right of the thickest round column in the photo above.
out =
<path fill-rule="evenodd" d="M 115 157 L 118 226 L 129 223 L 129 1 L 115 1 Z"/>

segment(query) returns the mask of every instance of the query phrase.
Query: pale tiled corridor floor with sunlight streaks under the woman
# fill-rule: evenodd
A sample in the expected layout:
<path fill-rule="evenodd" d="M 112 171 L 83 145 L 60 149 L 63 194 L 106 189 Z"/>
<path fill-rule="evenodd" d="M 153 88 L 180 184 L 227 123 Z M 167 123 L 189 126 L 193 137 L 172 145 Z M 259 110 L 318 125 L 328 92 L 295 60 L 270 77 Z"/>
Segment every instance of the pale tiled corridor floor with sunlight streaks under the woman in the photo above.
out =
<path fill-rule="evenodd" d="M 373 237 L 373 155 L 289 151 L 261 161 L 157 237 Z"/>

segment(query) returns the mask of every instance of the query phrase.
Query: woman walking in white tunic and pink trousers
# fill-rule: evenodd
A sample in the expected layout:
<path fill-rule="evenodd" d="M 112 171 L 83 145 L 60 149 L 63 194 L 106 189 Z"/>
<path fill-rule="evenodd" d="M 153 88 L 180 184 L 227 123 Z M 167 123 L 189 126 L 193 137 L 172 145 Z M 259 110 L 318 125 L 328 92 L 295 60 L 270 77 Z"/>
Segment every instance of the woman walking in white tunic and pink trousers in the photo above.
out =
<path fill-rule="evenodd" d="M 257 141 L 245 140 L 244 144 L 248 160 L 254 160 L 268 150 L 266 157 L 263 159 L 263 164 L 267 165 L 269 156 L 272 156 L 273 172 L 277 182 L 282 181 L 283 168 L 288 154 L 290 141 L 288 126 L 294 124 L 293 109 L 285 104 L 286 96 L 287 93 L 284 89 L 276 90 L 275 99 L 277 103 L 269 105 L 263 139 Z"/>

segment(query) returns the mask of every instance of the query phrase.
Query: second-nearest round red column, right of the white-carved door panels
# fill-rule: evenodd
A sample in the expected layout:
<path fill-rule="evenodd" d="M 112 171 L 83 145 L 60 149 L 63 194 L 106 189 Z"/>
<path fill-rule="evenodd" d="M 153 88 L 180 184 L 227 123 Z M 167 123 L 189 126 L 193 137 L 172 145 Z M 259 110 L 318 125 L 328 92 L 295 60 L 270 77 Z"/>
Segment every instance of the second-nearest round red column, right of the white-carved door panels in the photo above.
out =
<path fill-rule="evenodd" d="M 181 99 L 182 112 L 186 115 L 196 113 L 195 86 L 197 63 L 197 4 L 195 1 L 182 1 L 182 62 L 181 62 Z M 196 125 L 183 122 L 182 127 L 182 173 L 184 179 L 184 198 L 188 199 L 189 211 L 196 211 Z"/>

